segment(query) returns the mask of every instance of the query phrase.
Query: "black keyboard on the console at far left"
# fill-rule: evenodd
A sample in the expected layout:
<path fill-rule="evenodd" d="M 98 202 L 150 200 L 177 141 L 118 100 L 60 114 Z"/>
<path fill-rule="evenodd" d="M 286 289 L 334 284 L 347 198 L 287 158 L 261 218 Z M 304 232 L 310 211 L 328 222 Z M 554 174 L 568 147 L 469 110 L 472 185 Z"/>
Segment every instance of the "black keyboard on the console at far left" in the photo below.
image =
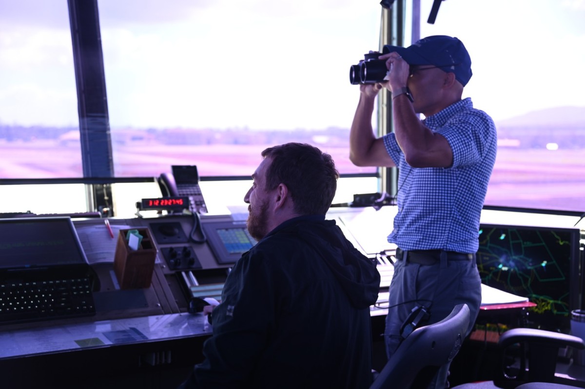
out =
<path fill-rule="evenodd" d="M 88 277 L 0 281 L 0 323 L 44 321 L 95 314 Z"/>

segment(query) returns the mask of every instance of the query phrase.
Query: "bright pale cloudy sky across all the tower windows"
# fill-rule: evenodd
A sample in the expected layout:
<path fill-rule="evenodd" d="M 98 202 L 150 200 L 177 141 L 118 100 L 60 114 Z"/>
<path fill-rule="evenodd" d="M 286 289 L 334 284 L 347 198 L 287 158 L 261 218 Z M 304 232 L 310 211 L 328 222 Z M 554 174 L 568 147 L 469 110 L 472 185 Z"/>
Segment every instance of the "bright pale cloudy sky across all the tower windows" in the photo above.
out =
<path fill-rule="evenodd" d="M 98 0 L 112 128 L 349 128 L 349 67 L 378 48 L 377 0 Z M 464 95 L 498 120 L 585 108 L 584 0 L 448 0 Z M 0 125 L 77 126 L 66 0 L 0 0 Z"/>

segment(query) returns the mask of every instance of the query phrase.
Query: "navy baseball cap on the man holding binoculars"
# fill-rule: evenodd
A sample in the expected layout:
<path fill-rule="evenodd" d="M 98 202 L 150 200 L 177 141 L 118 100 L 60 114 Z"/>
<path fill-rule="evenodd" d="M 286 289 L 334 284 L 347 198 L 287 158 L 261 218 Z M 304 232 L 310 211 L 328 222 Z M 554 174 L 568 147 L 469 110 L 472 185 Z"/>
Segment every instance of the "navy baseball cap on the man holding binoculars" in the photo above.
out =
<path fill-rule="evenodd" d="M 472 58 L 455 37 L 433 35 L 418 40 L 408 47 L 384 46 L 383 53 L 400 54 L 409 65 L 433 65 L 447 73 L 455 73 L 455 79 L 463 86 L 472 78 Z"/>

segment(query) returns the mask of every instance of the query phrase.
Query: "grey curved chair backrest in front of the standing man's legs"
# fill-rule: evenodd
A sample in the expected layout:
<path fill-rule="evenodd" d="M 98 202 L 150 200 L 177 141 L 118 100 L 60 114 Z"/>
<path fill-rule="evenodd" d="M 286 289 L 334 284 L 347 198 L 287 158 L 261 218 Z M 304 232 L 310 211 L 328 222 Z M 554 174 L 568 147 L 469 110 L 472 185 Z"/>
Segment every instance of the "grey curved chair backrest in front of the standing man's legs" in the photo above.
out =
<path fill-rule="evenodd" d="M 459 304 L 445 319 L 419 327 L 388 359 L 370 389 L 424 388 L 439 367 L 459 352 L 469 326 L 469 307 Z"/>

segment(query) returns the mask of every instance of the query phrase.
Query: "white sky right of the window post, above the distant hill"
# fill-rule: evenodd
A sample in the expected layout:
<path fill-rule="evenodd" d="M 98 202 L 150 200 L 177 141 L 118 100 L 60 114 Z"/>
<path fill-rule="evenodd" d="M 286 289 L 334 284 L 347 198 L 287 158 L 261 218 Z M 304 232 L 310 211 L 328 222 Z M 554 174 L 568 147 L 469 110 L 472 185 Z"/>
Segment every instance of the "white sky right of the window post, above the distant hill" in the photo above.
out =
<path fill-rule="evenodd" d="M 448 0 L 435 24 L 426 23 L 429 11 L 421 15 L 421 36 L 465 44 L 474 75 L 464 94 L 496 121 L 550 107 L 585 109 L 584 0 Z"/>

